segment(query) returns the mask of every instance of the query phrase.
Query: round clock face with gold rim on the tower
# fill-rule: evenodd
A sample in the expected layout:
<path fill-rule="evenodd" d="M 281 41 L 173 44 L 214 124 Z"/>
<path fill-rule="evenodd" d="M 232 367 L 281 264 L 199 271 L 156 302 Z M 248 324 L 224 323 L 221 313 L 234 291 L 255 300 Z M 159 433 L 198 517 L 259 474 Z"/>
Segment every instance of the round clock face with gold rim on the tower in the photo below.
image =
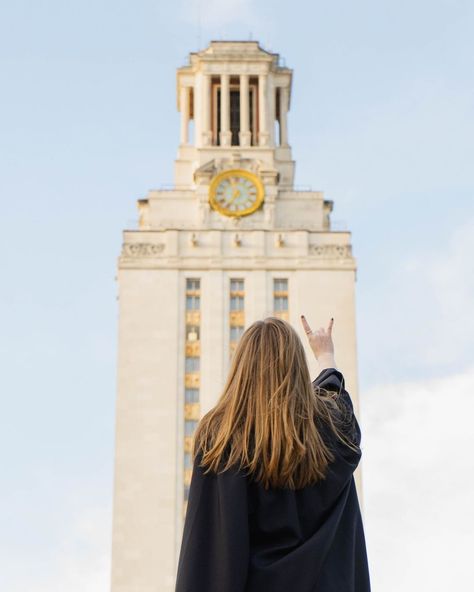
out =
<path fill-rule="evenodd" d="M 209 201 L 225 216 L 246 216 L 255 212 L 263 202 L 263 185 L 248 171 L 225 171 L 213 179 Z"/>

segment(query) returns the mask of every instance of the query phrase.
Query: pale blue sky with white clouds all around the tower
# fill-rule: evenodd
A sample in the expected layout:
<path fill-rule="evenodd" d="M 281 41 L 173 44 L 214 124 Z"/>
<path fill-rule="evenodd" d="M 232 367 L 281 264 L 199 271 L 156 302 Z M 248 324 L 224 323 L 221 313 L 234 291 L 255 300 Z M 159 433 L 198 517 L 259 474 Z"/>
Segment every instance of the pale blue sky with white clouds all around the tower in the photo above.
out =
<path fill-rule="evenodd" d="M 108 587 L 121 231 L 173 181 L 176 68 L 250 38 L 294 69 L 296 184 L 352 231 L 375 589 L 465 589 L 473 27 L 467 0 L 3 5 L 2 589 Z"/>

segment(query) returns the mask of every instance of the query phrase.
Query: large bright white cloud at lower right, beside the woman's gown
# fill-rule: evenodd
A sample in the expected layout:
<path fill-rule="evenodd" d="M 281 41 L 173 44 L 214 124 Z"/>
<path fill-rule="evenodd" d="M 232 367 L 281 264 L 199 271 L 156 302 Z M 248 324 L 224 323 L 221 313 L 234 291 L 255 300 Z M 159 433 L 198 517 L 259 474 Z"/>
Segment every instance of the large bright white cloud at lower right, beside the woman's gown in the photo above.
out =
<path fill-rule="evenodd" d="M 474 367 L 362 396 L 362 478 L 374 590 L 472 584 Z"/>

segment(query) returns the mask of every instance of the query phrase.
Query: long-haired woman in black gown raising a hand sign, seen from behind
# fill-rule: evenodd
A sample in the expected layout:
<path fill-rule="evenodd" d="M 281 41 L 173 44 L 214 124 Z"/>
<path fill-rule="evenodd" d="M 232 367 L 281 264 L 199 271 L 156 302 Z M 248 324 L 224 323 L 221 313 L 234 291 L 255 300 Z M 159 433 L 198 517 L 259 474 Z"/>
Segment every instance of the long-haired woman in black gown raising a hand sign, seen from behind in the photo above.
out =
<path fill-rule="evenodd" d="M 311 331 L 311 382 L 291 325 L 253 323 L 200 421 L 176 592 L 369 592 L 353 472 L 361 432 L 331 319 Z"/>

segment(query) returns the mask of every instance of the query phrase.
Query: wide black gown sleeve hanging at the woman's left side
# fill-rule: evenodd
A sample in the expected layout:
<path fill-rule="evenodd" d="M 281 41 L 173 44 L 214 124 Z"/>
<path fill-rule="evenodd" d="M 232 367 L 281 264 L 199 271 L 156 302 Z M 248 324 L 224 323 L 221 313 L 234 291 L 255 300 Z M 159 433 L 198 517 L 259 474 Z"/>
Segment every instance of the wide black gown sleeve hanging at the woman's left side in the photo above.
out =
<path fill-rule="evenodd" d="M 249 562 L 247 478 L 194 460 L 175 592 L 244 592 Z"/>

